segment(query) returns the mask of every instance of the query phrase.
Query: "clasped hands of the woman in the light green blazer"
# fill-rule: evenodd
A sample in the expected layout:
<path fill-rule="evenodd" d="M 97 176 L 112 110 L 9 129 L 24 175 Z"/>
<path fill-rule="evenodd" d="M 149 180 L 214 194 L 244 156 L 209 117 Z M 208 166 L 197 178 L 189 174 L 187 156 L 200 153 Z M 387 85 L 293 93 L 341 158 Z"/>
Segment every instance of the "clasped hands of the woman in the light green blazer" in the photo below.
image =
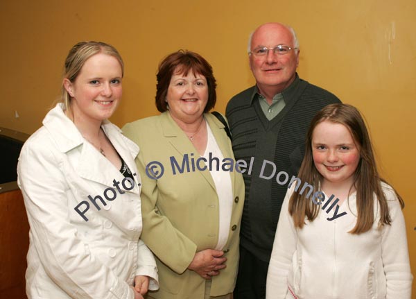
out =
<path fill-rule="evenodd" d="M 223 251 L 220 250 L 201 250 L 195 254 L 188 268 L 209 280 L 211 276 L 220 274 L 220 270 L 226 267 L 224 263 L 227 261 L 227 257 L 223 257 L 223 255 Z"/>

